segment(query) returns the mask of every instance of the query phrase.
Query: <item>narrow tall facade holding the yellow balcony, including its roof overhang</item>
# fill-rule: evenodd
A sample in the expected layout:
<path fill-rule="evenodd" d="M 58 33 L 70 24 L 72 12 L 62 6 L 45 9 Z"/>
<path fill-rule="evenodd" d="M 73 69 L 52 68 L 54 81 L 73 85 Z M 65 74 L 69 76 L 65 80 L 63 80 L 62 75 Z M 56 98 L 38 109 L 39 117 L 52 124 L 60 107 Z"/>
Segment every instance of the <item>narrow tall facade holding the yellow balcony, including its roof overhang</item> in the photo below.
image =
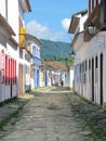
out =
<path fill-rule="evenodd" d="M 24 22 L 24 15 L 27 12 L 30 12 L 30 3 L 29 0 L 18 0 L 18 79 L 17 79 L 17 86 L 18 86 L 18 95 L 25 93 L 26 87 L 25 87 L 25 80 L 26 80 L 26 59 L 25 59 L 25 50 L 26 50 L 26 29 L 25 29 L 25 22 Z"/>

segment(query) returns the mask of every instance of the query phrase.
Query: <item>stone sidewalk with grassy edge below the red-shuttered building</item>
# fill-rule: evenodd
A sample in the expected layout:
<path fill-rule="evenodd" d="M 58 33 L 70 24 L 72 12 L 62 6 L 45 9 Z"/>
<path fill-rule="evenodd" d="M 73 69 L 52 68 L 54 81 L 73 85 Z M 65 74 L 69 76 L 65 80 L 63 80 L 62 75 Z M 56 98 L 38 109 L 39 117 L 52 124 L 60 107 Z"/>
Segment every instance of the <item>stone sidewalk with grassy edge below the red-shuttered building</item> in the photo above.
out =
<path fill-rule="evenodd" d="M 16 115 L 16 113 L 32 98 L 34 95 L 23 94 L 23 97 L 18 97 L 17 99 L 14 98 L 0 103 L 0 130 L 2 126 L 4 126 L 12 116 Z"/>

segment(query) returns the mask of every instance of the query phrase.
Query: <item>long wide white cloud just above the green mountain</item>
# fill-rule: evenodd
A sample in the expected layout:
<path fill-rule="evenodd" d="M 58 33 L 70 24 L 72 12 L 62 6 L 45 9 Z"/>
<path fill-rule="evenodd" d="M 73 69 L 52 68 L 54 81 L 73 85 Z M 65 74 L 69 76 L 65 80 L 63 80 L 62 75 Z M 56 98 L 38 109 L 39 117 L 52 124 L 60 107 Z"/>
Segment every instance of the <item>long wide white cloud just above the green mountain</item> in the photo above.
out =
<path fill-rule="evenodd" d="M 66 33 L 55 31 L 48 26 L 41 25 L 37 21 L 30 21 L 26 24 L 27 34 L 34 35 L 40 39 L 50 39 L 53 41 L 64 40 Z"/>

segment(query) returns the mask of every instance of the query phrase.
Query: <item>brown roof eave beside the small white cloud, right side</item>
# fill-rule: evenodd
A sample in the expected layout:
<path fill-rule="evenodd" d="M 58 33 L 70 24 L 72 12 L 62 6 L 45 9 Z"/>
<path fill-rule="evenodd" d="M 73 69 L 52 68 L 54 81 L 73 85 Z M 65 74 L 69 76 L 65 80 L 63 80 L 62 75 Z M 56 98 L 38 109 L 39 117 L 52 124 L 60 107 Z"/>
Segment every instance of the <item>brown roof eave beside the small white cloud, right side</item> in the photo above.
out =
<path fill-rule="evenodd" d="M 77 26 L 79 24 L 79 21 L 80 21 L 80 17 L 78 17 L 78 15 L 80 15 L 80 14 L 84 15 L 87 13 L 88 13 L 88 10 L 83 10 L 83 11 L 80 11 L 80 12 L 78 12 L 78 13 L 76 13 L 76 14 L 74 14 L 71 16 L 71 22 L 70 22 L 70 26 L 69 26 L 68 33 L 75 34 L 76 28 L 77 28 Z"/>

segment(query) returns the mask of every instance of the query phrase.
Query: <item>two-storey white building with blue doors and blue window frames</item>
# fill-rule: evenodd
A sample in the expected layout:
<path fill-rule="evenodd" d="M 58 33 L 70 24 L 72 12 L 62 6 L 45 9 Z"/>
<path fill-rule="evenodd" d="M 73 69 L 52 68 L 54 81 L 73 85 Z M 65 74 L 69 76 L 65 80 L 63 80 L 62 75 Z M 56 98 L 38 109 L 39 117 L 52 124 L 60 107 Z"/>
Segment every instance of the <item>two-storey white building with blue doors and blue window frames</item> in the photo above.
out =
<path fill-rule="evenodd" d="M 41 56 L 40 48 L 42 42 L 32 35 L 26 35 L 27 49 L 32 54 L 30 60 L 30 88 L 41 87 Z"/>

